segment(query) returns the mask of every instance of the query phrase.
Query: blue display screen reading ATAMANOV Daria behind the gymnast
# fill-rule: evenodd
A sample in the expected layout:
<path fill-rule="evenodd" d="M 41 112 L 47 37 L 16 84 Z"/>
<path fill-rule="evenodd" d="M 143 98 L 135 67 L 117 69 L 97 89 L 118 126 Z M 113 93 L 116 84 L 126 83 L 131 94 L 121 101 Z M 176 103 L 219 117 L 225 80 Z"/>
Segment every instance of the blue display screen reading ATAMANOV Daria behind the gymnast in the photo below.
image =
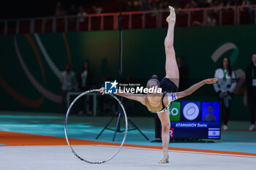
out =
<path fill-rule="evenodd" d="M 174 139 L 220 139 L 219 102 L 173 102 L 170 124 Z"/>

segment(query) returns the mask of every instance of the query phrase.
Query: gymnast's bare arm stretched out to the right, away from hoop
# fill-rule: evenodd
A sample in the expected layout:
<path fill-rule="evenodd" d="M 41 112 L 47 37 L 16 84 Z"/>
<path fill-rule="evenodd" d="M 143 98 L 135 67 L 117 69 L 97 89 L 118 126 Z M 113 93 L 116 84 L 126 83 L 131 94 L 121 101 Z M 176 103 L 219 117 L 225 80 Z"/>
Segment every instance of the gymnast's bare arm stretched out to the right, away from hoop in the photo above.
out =
<path fill-rule="evenodd" d="M 206 84 L 207 85 L 211 85 L 211 84 L 214 84 L 217 81 L 218 81 L 217 78 L 213 78 L 213 79 L 206 79 L 206 80 L 202 80 L 200 82 L 197 82 L 195 85 L 192 85 L 187 90 L 184 90 L 184 91 L 176 93 L 176 99 L 183 98 L 185 96 L 189 96 L 192 93 L 194 93 L 195 90 L 197 90 L 198 88 L 202 87 L 203 85 L 206 85 Z"/>

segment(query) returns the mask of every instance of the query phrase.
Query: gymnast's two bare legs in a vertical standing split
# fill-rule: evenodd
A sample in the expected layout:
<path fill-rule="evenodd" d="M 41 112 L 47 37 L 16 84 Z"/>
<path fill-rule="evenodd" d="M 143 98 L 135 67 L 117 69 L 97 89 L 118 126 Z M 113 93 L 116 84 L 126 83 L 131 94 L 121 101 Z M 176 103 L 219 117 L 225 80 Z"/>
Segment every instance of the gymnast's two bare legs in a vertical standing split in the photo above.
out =
<path fill-rule="evenodd" d="M 167 36 L 165 38 L 165 72 L 166 77 L 174 82 L 174 84 L 178 88 L 179 82 L 179 74 L 178 74 L 178 66 L 176 63 L 176 55 L 173 47 L 173 36 L 174 36 L 174 26 L 176 23 L 176 14 L 173 7 L 169 7 L 170 15 L 166 18 L 168 23 Z M 159 119 L 162 123 L 162 151 L 164 153 L 164 157 L 159 163 L 168 163 L 169 162 L 169 154 L 168 154 L 168 146 L 170 142 L 170 118 L 169 112 L 159 112 Z"/>

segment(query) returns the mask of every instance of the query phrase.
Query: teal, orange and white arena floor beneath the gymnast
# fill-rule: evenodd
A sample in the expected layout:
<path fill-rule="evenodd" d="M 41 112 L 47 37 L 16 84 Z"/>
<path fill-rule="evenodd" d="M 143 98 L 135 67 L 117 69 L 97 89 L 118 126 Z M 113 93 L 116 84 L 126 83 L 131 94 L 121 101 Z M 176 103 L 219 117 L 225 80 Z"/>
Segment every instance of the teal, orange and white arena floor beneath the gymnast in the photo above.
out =
<path fill-rule="evenodd" d="M 83 158 L 101 161 L 116 152 L 123 134 L 112 141 L 105 131 L 109 117 L 73 117 L 70 143 Z M 150 140 L 154 139 L 152 117 L 131 117 Z M 161 143 L 152 143 L 138 131 L 129 131 L 121 152 L 107 163 L 91 165 L 72 154 L 64 138 L 64 115 L 15 112 L 0 113 L 0 169 L 255 169 L 256 131 L 249 123 L 230 122 L 229 131 L 214 143 L 171 142 L 170 163 L 162 158 Z"/>

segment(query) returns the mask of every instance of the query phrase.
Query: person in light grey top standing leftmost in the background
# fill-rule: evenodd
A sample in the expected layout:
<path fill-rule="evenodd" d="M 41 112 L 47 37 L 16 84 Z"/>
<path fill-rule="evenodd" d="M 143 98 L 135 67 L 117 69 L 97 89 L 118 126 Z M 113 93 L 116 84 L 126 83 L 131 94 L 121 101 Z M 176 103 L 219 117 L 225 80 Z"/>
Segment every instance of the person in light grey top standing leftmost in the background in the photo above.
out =
<path fill-rule="evenodd" d="M 66 64 L 66 71 L 61 73 L 61 113 L 64 112 L 65 101 L 67 100 L 67 93 L 74 90 L 77 84 L 75 79 L 75 72 L 72 72 L 71 65 Z"/>

